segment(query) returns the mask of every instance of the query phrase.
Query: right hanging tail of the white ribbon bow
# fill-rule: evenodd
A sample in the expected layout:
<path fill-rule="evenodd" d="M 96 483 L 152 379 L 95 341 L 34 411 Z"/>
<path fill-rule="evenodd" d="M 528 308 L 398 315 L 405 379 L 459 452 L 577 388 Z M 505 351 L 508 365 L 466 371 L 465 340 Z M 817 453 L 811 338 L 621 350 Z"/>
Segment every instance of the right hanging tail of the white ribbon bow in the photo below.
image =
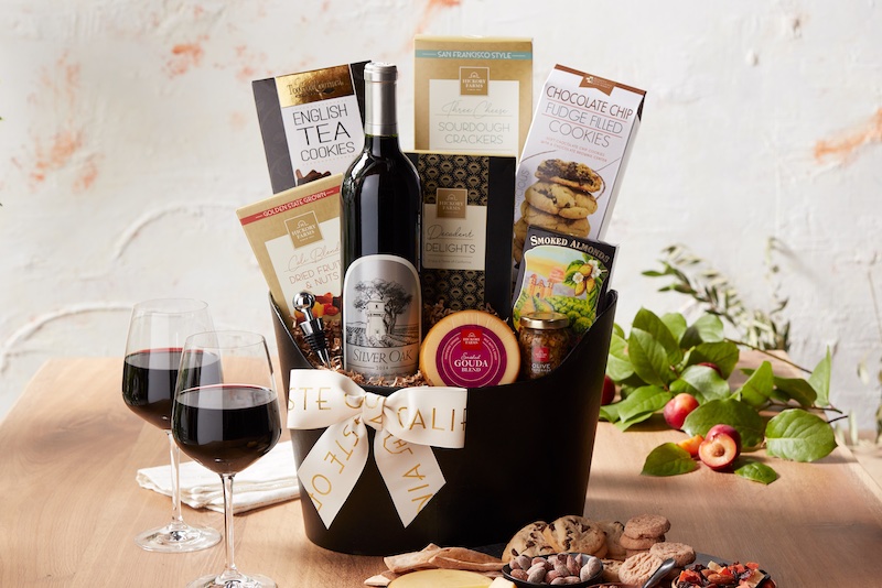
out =
<path fill-rule="evenodd" d="M 431 447 L 408 443 L 387 431 L 374 437 L 374 459 L 405 526 L 445 483 Z"/>

